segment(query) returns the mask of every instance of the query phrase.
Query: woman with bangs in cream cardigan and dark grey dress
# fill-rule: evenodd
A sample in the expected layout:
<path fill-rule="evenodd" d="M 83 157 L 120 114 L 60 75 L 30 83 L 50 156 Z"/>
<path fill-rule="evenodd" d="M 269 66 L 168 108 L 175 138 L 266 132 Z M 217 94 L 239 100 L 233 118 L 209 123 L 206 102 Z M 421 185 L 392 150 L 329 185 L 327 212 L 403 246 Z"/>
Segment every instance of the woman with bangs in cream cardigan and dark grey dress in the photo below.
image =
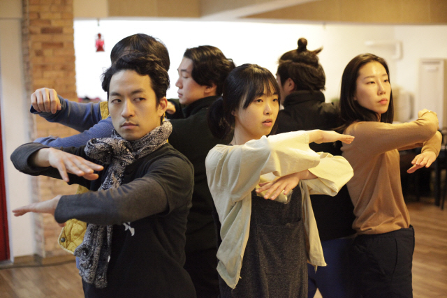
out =
<path fill-rule="evenodd" d="M 335 195 L 352 169 L 341 156 L 316 154 L 309 143 L 353 137 L 320 130 L 266 137 L 278 112 L 274 76 L 253 64 L 231 71 L 222 99 L 208 112 L 215 137 L 233 133 L 205 161 L 218 217 L 222 298 L 305 298 L 307 260 L 325 266 L 309 193 Z"/>

